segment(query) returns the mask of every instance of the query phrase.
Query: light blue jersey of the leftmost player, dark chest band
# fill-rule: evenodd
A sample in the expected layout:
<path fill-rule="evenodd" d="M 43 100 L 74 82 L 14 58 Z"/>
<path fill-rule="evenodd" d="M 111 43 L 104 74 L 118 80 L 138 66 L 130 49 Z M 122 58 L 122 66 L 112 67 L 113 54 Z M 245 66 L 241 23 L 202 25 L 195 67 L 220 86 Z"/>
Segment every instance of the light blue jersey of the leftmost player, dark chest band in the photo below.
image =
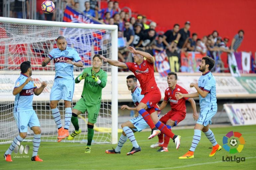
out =
<path fill-rule="evenodd" d="M 14 88 L 20 87 L 25 81 L 27 80 L 28 76 L 25 74 L 20 75 L 17 79 Z M 26 84 L 21 92 L 15 95 L 14 101 L 14 112 L 26 112 L 26 111 L 33 111 L 32 103 L 33 103 L 33 96 L 34 96 L 34 89 L 37 86 L 33 81 L 30 81 Z"/>

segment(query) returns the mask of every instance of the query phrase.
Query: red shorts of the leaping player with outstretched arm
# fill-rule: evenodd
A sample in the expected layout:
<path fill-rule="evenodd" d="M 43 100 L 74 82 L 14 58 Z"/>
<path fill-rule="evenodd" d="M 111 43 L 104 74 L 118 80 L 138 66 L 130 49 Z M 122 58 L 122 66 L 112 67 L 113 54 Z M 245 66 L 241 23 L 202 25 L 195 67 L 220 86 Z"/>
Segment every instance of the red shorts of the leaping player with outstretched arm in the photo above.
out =
<path fill-rule="evenodd" d="M 148 106 L 148 108 L 152 108 L 155 104 L 158 104 L 161 100 L 160 90 L 153 90 L 144 94 L 144 98 L 140 101 Z"/>

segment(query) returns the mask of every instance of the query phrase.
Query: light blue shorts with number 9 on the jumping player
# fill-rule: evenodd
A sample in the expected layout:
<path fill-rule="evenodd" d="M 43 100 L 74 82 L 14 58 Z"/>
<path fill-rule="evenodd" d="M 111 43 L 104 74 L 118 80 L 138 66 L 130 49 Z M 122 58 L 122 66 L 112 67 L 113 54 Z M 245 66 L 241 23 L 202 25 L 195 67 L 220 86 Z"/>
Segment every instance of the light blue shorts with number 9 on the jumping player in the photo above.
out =
<path fill-rule="evenodd" d="M 74 94 L 74 85 L 74 80 L 56 78 L 51 90 L 50 101 L 63 99 L 71 102 Z"/>

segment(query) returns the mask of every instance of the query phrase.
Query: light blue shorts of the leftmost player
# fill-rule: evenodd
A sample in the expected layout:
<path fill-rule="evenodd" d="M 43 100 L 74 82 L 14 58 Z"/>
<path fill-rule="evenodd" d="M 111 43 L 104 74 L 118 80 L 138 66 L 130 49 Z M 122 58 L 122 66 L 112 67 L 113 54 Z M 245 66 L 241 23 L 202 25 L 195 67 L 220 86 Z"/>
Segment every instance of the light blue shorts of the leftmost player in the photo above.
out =
<path fill-rule="evenodd" d="M 14 112 L 14 119 L 16 121 L 16 125 L 20 132 L 27 132 L 28 126 L 30 128 L 34 126 L 40 127 L 40 123 L 37 117 L 37 114 L 34 110 L 26 111 L 26 112 Z"/>

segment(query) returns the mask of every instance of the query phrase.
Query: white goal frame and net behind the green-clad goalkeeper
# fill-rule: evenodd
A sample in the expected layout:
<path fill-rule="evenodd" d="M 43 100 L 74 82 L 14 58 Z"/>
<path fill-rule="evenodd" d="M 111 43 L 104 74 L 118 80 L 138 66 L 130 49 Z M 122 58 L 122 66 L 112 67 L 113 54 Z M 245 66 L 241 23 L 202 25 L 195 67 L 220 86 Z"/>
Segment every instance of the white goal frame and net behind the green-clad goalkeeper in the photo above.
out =
<path fill-rule="evenodd" d="M 13 117 L 15 96 L 12 91 L 20 76 L 20 64 L 27 60 L 31 61 L 32 78 L 37 87 L 43 81 L 48 84 L 33 99 L 33 108 L 41 124 L 41 140 L 57 141 L 58 129 L 50 109 L 50 91 L 55 77 L 54 62 L 51 60 L 46 67 L 41 64 L 49 52 L 57 48 L 56 39 L 59 36 L 64 36 L 67 46 L 77 50 L 84 67 L 92 66 L 94 54 L 117 60 L 117 26 L 0 17 L 0 144 L 11 142 L 19 133 Z M 74 75 L 77 76 L 83 68 L 74 66 Z M 92 142 L 117 143 L 117 68 L 103 63 L 102 69 L 107 71 L 108 78 L 102 91 L 101 109 L 94 125 Z M 82 80 L 75 84 L 72 107 L 81 97 L 83 83 Z M 63 100 L 59 102 L 58 108 L 64 125 Z M 78 120 L 82 133 L 71 142 L 87 142 L 87 113 L 79 115 Z M 73 130 L 71 123 L 69 133 Z M 32 140 L 33 134 L 28 129 L 26 140 Z M 62 141 L 70 142 L 66 138 Z"/>

